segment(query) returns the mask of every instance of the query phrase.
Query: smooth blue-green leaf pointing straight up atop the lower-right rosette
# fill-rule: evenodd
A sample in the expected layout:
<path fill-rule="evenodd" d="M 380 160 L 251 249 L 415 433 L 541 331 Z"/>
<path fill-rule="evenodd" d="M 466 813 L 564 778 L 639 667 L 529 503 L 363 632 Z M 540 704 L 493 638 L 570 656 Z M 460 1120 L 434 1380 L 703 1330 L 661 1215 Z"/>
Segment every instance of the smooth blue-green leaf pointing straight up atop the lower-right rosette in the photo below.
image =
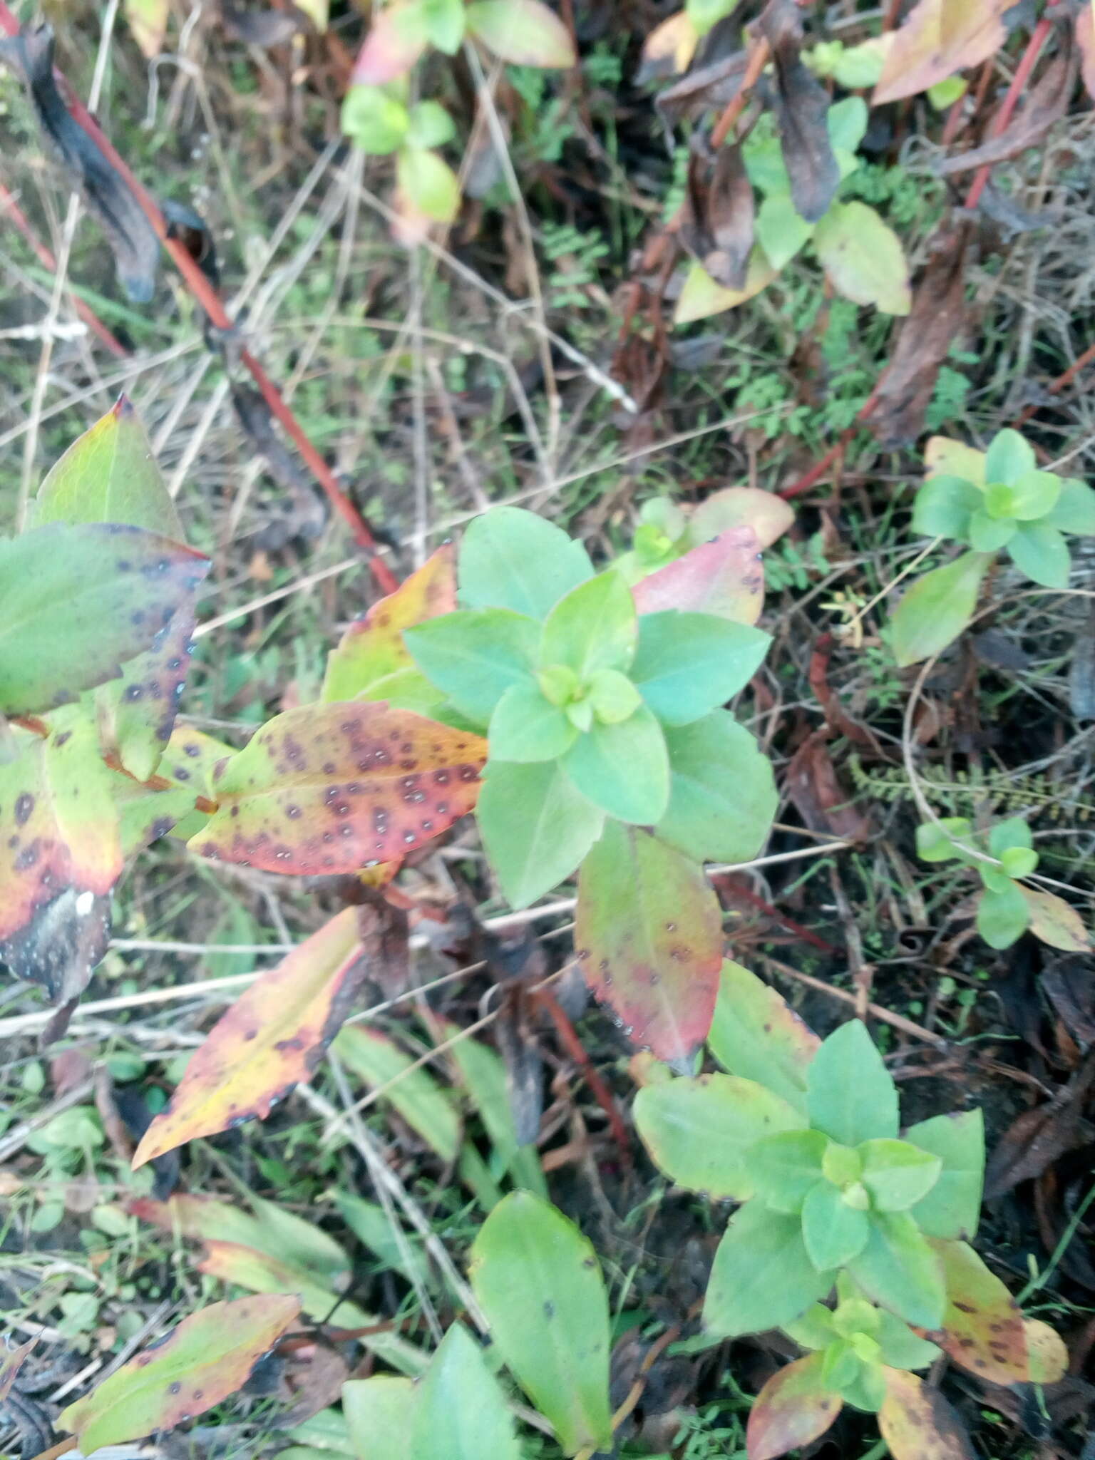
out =
<path fill-rule="evenodd" d="M 806 1073 L 806 1091 L 810 1124 L 844 1146 L 898 1133 L 896 1086 L 858 1019 L 822 1042 Z"/>

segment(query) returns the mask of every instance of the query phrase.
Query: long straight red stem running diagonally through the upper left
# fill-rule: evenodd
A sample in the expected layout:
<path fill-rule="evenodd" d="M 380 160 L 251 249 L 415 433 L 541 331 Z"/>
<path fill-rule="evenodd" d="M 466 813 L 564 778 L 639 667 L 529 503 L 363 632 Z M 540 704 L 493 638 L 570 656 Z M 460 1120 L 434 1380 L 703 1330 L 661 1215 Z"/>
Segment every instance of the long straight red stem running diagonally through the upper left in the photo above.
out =
<path fill-rule="evenodd" d="M 9 10 L 4 0 L 0 0 L 0 29 L 6 31 L 7 35 L 19 34 L 19 22 L 15 18 L 15 15 Z M 69 111 L 72 112 L 73 121 L 76 121 L 80 127 L 83 127 L 88 136 L 101 149 L 102 155 L 108 159 L 111 166 L 114 166 L 115 171 L 121 175 L 126 185 L 133 193 L 133 197 L 137 200 L 137 204 L 140 206 L 142 212 L 152 223 L 156 237 L 161 239 L 164 248 L 171 256 L 171 261 L 182 274 L 187 288 L 194 295 L 201 308 L 206 311 L 212 324 L 218 330 L 226 333 L 231 331 L 234 328 L 234 324 L 220 301 L 220 295 L 209 282 L 209 279 L 206 279 L 206 276 L 201 273 L 197 260 L 194 260 L 190 256 L 187 247 L 181 242 L 181 239 L 168 237 L 168 225 L 156 204 L 156 200 L 136 180 L 136 177 L 133 175 L 127 164 L 123 161 L 123 158 L 117 153 L 108 137 L 104 136 L 98 121 L 92 117 L 92 114 L 88 111 L 88 108 L 83 105 L 79 96 L 76 96 L 72 86 L 69 85 L 69 80 L 60 70 L 57 70 L 57 67 L 54 67 L 54 77 L 57 80 L 58 88 L 61 89 L 61 95 L 64 96 Z M 384 562 L 384 559 L 378 555 L 377 540 L 369 531 L 368 524 L 365 523 L 365 520 L 362 518 L 361 512 L 353 505 L 353 502 L 350 502 L 350 499 L 342 491 L 334 473 L 305 435 L 296 416 L 286 404 L 285 397 L 282 396 L 282 393 L 277 390 L 274 383 L 270 380 L 270 377 L 266 374 L 263 366 L 258 364 L 254 355 L 251 355 L 250 350 L 241 350 L 239 359 L 250 371 L 251 378 L 258 387 L 263 400 L 270 407 L 270 412 L 277 418 L 277 420 L 282 423 L 288 435 L 292 437 L 298 451 L 308 464 L 308 469 L 311 470 L 312 476 L 327 493 L 331 507 L 346 521 L 350 531 L 353 533 L 355 542 L 368 555 L 368 564 L 372 571 L 372 577 L 377 581 L 377 587 L 381 590 L 381 593 L 394 593 L 396 588 L 399 587 L 399 580 L 396 578 L 394 572 L 387 565 L 387 562 Z"/>

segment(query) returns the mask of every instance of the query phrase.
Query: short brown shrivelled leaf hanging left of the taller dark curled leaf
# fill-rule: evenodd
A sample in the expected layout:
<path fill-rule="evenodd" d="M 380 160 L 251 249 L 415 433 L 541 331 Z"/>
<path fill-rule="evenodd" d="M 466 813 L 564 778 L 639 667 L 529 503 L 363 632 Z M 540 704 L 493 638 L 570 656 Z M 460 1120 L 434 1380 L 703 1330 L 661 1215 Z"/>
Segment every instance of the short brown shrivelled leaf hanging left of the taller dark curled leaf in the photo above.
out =
<path fill-rule="evenodd" d="M 692 152 L 679 237 L 715 283 L 726 289 L 745 285 L 753 247 L 753 185 L 740 147 L 720 147 L 714 162 Z"/>

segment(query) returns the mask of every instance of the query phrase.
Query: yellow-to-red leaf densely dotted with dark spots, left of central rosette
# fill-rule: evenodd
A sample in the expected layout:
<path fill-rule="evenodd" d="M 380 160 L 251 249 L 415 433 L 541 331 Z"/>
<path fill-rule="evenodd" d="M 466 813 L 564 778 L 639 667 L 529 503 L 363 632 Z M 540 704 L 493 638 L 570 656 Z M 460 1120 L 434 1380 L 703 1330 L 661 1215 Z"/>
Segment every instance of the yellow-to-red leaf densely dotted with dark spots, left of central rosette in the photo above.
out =
<path fill-rule="evenodd" d="M 385 704 L 276 715 L 218 769 L 203 857 L 296 876 L 404 857 L 476 803 L 486 740 Z"/>

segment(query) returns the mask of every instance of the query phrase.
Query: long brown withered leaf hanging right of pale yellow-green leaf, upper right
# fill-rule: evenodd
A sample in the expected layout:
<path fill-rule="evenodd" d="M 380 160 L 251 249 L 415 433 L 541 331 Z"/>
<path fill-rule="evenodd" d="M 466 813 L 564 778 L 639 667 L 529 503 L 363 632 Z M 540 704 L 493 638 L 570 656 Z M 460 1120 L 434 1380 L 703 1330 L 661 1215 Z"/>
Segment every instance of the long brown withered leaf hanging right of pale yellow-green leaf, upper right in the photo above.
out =
<path fill-rule="evenodd" d="M 902 445 L 924 429 L 939 368 L 965 318 L 968 242 L 965 223 L 945 222 L 929 244 L 912 308 L 901 326 L 869 418 L 883 445 Z"/>

